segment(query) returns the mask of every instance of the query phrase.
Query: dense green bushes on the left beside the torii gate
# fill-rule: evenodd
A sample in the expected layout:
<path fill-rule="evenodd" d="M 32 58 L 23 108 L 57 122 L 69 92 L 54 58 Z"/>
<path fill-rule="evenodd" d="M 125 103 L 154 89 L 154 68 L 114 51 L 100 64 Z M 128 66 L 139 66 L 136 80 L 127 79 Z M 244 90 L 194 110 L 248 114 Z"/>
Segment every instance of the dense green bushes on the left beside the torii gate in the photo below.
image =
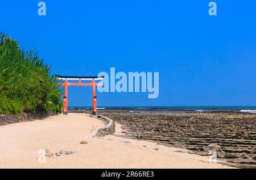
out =
<path fill-rule="evenodd" d="M 0 114 L 60 112 L 61 89 L 36 51 L 24 52 L 0 34 Z"/>

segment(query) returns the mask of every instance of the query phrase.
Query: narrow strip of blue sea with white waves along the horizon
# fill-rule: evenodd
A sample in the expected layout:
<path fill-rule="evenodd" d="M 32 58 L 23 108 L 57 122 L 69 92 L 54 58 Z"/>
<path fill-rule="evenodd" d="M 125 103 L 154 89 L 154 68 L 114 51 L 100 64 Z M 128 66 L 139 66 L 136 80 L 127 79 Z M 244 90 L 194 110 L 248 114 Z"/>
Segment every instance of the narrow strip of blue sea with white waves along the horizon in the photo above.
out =
<path fill-rule="evenodd" d="M 69 110 L 91 110 L 90 106 L 70 106 Z M 256 115 L 256 106 L 102 106 L 98 111 L 122 113 L 185 113 L 185 112 L 241 112 Z"/>

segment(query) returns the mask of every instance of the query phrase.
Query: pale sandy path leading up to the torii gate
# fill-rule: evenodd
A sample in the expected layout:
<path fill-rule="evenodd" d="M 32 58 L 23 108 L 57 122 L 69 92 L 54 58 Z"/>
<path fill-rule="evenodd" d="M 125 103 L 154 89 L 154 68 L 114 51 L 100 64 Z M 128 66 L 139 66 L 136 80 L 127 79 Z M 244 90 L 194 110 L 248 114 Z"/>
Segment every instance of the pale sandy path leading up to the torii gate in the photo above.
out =
<path fill-rule="evenodd" d="M 0 168 L 229 168 L 209 164 L 208 157 L 175 152 L 177 148 L 119 137 L 93 138 L 93 127 L 104 124 L 89 114 L 57 115 L 45 120 L 0 127 Z M 81 140 L 88 144 L 80 144 Z M 129 141 L 130 144 L 120 141 Z M 147 147 L 144 147 L 146 145 Z M 159 150 L 154 150 L 159 148 Z M 38 150 L 76 150 L 76 154 L 46 158 L 38 162 Z"/>

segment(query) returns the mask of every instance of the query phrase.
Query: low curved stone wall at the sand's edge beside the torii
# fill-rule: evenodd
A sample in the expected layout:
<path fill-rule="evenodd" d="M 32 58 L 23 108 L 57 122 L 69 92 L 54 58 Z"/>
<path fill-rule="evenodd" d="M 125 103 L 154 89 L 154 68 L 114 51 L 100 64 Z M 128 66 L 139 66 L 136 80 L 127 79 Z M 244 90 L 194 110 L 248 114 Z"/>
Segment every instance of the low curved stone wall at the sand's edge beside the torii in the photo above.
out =
<path fill-rule="evenodd" d="M 106 126 L 93 129 L 92 137 L 111 135 L 115 132 L 115 123 L 112 119 L 109 119 L 102 115 L 97 115 L 93 117 L 101 119 Z"/>

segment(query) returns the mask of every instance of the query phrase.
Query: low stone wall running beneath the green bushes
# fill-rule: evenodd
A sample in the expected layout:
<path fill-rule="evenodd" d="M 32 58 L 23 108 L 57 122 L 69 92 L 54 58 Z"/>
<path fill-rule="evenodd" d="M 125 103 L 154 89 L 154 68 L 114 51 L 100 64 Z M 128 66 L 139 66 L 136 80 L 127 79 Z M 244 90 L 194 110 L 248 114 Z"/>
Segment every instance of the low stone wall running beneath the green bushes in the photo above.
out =
<path fill-rule="evenodd" d="M 24 113 L 24 114 L 0 115 L 0 126 L 13 124 L 13 123 L 20 123 L 20 122 L 31 122 L 36 119 L 42 120 L 56 114 L 57 113 L 54 111 L 49 111 L 49 112 L 36 112 L 35 114 Z"/>

